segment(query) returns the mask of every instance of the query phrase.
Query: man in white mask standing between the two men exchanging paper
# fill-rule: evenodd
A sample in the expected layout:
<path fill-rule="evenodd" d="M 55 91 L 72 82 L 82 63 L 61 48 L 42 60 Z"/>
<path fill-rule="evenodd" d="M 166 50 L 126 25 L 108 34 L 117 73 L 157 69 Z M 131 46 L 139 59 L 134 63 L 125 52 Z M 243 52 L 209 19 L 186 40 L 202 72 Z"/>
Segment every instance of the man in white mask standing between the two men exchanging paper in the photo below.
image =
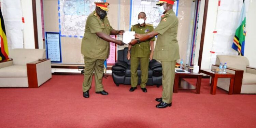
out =
<path fill-rule="evenodd" d="M 131 26 L 131 31 L 135 31 L 139 34 L 150 33 L 154 30 L 153 25 L 145 24 L 146 14 L 144 12 L 140 12 L 138 15 L 138 23 L 136 25 Z M 135 45 L 129 45 L 127 59 L 131 60 L 131 88 L 130 91 L 134 91 L 137 89 L 138 85 L 138 74 L 137 69 L 140 63 L 141 69 L 141 83 L 140 87 L 144 93 L 147 92 L 146 83 L 148 77 L 148 64 L 149 60 L 152 60 L 154 53 L 154 40 L 155 37 L 146 40 L 143 42 L 139 42 Z M 150 48 L 152 49 L 150 52 Z"/>

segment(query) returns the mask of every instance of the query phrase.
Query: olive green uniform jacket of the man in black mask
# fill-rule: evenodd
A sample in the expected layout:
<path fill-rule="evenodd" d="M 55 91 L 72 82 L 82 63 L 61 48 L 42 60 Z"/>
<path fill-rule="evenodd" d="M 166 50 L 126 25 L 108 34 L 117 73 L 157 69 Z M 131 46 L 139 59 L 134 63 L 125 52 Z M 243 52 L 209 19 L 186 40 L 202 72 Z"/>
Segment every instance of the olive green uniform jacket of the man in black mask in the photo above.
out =
<path fill-rule="evenodd" d="M 82 39 L 81 53 L 89 58 L 107 59 L 109 56 L 110 44 L 98 37 L 97 32 L 110 35 L 113 28 L 109 24 L 108 17 L 100 19 L 94 11 L 86 20 L 84 37 Z"/>

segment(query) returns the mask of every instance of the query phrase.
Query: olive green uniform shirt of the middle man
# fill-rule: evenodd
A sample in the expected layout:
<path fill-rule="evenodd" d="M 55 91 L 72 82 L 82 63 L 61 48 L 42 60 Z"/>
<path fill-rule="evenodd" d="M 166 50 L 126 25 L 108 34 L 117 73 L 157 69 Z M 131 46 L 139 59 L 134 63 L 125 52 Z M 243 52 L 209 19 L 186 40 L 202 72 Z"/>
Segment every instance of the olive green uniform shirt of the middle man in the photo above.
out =
<path fill-rule="evenodd" d="M 145 24 L 140 26 L 140 24 L 131 26 L 131 31 L 135 31 L 138 34 L 150 33 L 154 30 L 153 25 Z M 137 43 L 131 47 L 131 56 L 134 57 L 148 57 L 150 55 L 150 41 L 154 41 L 155 37 L 151 40 L 147 40 L 141 43 Z"/>

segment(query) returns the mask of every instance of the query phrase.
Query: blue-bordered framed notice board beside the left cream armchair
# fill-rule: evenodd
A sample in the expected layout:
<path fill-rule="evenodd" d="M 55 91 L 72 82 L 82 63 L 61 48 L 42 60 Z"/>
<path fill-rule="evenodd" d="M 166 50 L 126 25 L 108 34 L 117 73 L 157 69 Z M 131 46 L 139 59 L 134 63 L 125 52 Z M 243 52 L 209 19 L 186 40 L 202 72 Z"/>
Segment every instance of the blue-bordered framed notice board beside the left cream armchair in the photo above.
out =
<path fill-rule="evenodd" d="M 58 32 L 45 32 L 46 56 L 51 62 L 61 63 L 60 34 Z"/>

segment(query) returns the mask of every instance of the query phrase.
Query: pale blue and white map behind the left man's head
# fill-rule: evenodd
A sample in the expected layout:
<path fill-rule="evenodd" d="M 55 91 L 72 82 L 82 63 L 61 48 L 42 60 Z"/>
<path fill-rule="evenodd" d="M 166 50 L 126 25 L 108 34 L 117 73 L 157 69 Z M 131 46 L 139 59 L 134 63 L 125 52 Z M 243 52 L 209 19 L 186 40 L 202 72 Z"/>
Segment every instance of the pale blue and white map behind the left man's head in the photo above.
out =
<path fill-rule="evenodd" d="M 94 2 L 103 1 L 58 0 L 60 36 L 83 38 L 86 19 L 95 10 Z"/>

